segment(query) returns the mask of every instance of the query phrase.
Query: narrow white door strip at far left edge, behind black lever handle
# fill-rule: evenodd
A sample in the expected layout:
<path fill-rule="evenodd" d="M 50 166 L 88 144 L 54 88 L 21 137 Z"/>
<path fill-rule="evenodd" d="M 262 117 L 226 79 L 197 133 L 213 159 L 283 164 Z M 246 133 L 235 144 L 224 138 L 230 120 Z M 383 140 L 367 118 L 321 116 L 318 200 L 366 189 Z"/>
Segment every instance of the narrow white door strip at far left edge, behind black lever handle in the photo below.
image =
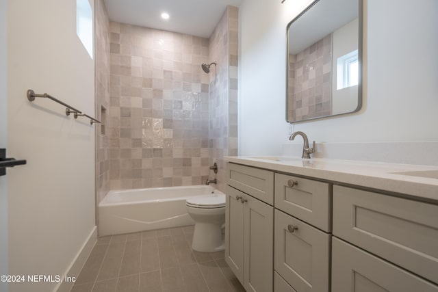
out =
<path fill-rule="evenodd" d="M 8 101 L 6 100 L 6 0 L 0 0 L 0 148 L 6 148 L 6 118 Z M 8 185 L 6 176 L 0 176 L 0 275 L 8 275 Z M 8 283 L 0 281 L 0 291 L 8 291 Z"/>

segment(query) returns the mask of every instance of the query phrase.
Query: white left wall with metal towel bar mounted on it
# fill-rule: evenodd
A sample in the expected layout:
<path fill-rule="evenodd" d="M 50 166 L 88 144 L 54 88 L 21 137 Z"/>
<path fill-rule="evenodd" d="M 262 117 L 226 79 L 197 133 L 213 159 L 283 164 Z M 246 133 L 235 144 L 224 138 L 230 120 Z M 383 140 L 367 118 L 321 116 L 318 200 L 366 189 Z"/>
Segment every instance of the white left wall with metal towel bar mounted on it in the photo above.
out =
<path fill-rule="evenodd" d="M 8 1 L 9 274 L 60 275 L 92 231 L 94 126 L 66 117 L 47 92 L 94 116 L 94 61 L 76 35 L 76 1 Z M 10 284 L 53 291 L 58 283 Z"/>

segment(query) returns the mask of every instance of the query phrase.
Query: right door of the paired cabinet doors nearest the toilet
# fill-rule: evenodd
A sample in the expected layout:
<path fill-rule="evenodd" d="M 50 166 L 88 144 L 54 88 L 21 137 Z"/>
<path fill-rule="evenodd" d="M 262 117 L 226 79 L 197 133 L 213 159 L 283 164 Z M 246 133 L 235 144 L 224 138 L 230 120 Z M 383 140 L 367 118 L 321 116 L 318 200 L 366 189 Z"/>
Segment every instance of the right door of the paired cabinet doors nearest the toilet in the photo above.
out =
<path fill-rule="evenodd" d="M 273 289 L 274 208 L 245 195 L 244 288 L 247 292 Z"/>

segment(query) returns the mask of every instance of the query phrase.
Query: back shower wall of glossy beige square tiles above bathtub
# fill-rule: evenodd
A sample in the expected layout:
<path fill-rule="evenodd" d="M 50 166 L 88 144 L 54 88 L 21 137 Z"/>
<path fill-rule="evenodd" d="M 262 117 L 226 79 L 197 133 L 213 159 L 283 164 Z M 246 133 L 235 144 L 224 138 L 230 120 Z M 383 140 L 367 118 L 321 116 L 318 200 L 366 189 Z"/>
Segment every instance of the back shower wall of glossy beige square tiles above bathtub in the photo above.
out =
<path fill-rule="evenodd" d="M 111 189 L 209 175 L 209 40 L 110 22 Z"/>

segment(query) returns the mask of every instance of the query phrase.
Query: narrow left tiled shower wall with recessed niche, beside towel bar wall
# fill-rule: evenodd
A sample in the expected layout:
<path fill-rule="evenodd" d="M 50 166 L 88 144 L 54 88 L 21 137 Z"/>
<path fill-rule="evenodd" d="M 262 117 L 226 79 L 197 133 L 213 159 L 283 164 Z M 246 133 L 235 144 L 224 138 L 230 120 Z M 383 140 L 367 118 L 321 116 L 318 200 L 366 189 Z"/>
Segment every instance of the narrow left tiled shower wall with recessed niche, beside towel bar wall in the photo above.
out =
<path fill-rule="evenodd" d="M 99 203 L 110 189 L 110 138 L 105 132 L 106 115 L 101 109 L 110 108 L 110 20 L 103 0 L 94 3 L 96 17 L 95 82 L 96 117 L 102 124 L 96 129 L 96 201 Z M 105 132 L 105 133 L 103 133 Z"/>

